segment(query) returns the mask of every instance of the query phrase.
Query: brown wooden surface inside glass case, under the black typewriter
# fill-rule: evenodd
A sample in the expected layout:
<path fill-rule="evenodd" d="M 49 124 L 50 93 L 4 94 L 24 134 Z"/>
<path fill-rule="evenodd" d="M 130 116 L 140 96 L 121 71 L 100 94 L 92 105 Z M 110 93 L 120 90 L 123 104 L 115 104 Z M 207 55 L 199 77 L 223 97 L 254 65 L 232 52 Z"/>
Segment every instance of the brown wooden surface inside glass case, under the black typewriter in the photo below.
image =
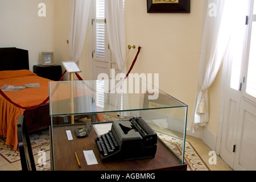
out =
<path fill-rule="evenodd" d="M 181 164 L 181 160 L 172 154 L 171 150 L 158 140 L 158 148 L 155 158 L 125 160 L 122 162 L 104 162 L 100 158 L 97 144 L 94 138 L 97 137 L 96 131 L 92 127 L 92 131 L 86 138 L 77 138 L 75 129 L 84 125 L 69 125 L 53 127 L 53 158 L 55 171 L 151 171 L 151 170 L 187 170 L 187 164 Z M 71 130 L 73 140 L 68 140 L 66 130 Z M 52 146 L 51 146 L 52 147 Z M 85 160 L 84 150 L 93 150 L 97 158 L 98 164 L 88 166 Z M 81 163 L 79 168 L 75 152 Z M 51 156 L 52 158 L 52 156 Z M 52 161 L 52 160 L 51 160 Z"/>

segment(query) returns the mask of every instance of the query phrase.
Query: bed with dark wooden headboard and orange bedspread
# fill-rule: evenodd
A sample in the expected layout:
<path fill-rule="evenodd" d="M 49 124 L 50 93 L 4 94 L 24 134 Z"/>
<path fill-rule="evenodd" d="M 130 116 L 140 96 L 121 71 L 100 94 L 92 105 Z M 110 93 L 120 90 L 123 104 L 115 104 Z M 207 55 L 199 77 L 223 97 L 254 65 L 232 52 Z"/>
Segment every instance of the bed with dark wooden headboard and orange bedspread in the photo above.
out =
<path fill-rule="evenodd" d="M 19 115 L 24 115 L 29 132 L 47 129 L 50 125 L 49 95 L 47 78 L 39 77 L 29 71 L 28 51 L 19 48 L 0 48 L 0 88 L 4 85 L 35 84 L 35 88 L 25 88 L 18 92 L 3 92 L 11 101 L 0 95 L 0 135 L 6 144 L 16 150 Z M 45 104 L 41 105 L 43 101 Z M 39 107 L 31 108 L 40 105 Z M 20 107 L 19 107 L 20 106 Z M 25 109 L 24 109 L 25 108 Z M 26 109 L 27 108 L 27 109 Z"/>

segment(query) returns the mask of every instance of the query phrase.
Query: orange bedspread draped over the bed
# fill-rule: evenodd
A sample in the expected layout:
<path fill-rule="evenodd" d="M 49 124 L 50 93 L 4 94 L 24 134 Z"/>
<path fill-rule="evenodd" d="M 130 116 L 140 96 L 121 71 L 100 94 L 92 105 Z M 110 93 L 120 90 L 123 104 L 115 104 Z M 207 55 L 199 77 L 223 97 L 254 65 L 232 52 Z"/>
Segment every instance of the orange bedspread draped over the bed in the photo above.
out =
<path fill-rule="evenodd" d="M 13 102 L 23 107 L 31 107 L 41 104 L 49 95 L 47 78 L 37 76 L 28 70 L 0 71 L 0 88 L 5 85 L 19 85 L 39 83 L 38 88 L 26 88 L 18 92 L 4 92 Z M 0 135 L 6 138 L 6 144 L 11 145 L 16 150 L 17 122 L 19 115 L 24 113 L 24 109 L 14 106 L 0 95 Z"/>

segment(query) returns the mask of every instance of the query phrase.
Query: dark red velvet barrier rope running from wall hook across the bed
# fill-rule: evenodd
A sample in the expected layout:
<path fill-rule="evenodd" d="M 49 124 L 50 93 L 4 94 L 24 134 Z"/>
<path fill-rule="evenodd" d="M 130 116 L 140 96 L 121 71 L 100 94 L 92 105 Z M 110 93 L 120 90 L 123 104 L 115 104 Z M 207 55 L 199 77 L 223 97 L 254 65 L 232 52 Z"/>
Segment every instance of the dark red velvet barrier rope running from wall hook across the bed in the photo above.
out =
<path fill-rule="evenodd" d="M 126 74 L 125 79 L 129 76 L 129 73 L 131 72 L 131 69 L 133 69 L 134 64 L 135 64 L 136 61 L 137 61 L 137 58 L 138 58 L 138 55 L 139 55 L 139 52 L 140 52 L 140 51 L 141 51 L 141 47 L 138 47 L 137 55 L 135 56 L 135 58 L 134 58 L 134 60 L 133 60 L 133 63 L 131 64 L 131 67 L 130 67 L 129 71 L 128 71 L 127 74 Z M 60 80 L 59 80 L 59 81 L 62 81 L 63 76 L 65 75 L 66 72 L 67 72 L 67 71 L 64 71 L 64 73 L 63 73 L 63 75 L 60 77 Z M 78 75 L 78 74 L 76 73 L 76 76 L 77 76 L 77 78 L 79 78 L 80 81 L 82 81 L 82 77 L 81 77 L 80 75 Z M 1 94 L 1 95 L 3 96 L 3 98 L 5 98 L 7 101 L 11 102 L 11 104 L 13 104 L 13 105 L 15 105 L 16 107 L 19 107 L 19 108 L 21 108 L 21 109 L 25 109 L 25 110 L 33 110 L 33 109 L 36 109 L 36 108 L 38 108 L 38 107 L 40 107 L 40 106 L 42 106 L 42 105 L 45 105 L 45 104 L 49 101 L 49 97 L 47 97 L 46 100 L 44 100 L 44 101 L 43 101 L 41 104 L 39 104 L 39 105 L 35 105 L 35 106 L 31 106 L 31 107 L 23 107 L 23 106 L 20 106 L 20 105 L 16 104 L 15 102 L 13 102 L 9 97 L 6 96 L 5 93 L 3 93 L 3 91 L 2 91 L 1 89 L 0 89 L 0 94 Z"/>

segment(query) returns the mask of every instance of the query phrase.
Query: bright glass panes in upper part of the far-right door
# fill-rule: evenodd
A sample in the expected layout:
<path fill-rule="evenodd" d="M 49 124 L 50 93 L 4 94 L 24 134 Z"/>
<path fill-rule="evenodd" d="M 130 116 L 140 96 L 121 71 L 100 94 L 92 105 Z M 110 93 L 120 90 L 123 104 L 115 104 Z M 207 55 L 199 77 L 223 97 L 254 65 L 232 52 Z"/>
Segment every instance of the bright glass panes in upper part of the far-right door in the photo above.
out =
<path fill-rule="evenodd" d="M 230 39 L 232 42 L 229 47 L 232 50 L 230 88 L 242 90 L 243 97 L 256 102 L 256 2 L 251 0 L 250 3 L 241 3 L 239 6 L 245 15 L 249 15 L 237 16 L 235 19 L 240 23 L 233 28 Z"/>

